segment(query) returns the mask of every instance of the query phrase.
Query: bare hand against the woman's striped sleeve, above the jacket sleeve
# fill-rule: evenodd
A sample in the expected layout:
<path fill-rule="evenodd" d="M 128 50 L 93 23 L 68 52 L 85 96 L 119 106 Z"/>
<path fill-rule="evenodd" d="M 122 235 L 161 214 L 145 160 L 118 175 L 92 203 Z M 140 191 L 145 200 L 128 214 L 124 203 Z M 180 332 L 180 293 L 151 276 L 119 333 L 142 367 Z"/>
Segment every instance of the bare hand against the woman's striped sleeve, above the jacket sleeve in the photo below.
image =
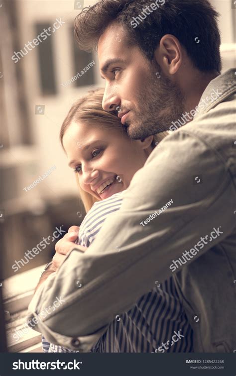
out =
<path fill-rule="evenodd" d="M 68 230 L 68 233 L 65 234 L 63 238 L 58 240 L 58 242 L 56 243 L 56 253 L 52 258 L 52 266 L 55 271 L 57 271 L 57 269 L 61 266 L 66 258 L 67 253 L 70 252 L 73 248 L 78 247 L 83 252 L 87 250 L 86 247 L 75 244 L 75 241 L 78 238 L 79 229 L 80 228 L 78 226 L 71 226 Z"/>

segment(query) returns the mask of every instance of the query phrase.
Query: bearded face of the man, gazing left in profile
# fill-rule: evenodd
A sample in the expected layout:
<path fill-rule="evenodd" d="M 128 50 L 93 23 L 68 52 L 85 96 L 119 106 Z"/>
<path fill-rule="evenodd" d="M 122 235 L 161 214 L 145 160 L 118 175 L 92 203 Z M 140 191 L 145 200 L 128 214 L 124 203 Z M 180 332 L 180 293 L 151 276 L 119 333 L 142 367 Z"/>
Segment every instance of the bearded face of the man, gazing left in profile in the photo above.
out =
<path fill-rule="evenodd" d="M 143 139 L 168 130 L 171 121 L 181 117 L 183 98 L 158 64 L 126 41 L 127 32 L 116 23 L 99 39 L 100 70 L 106 80 L 103 108 L 117 110 L 128 135 Z"/>

